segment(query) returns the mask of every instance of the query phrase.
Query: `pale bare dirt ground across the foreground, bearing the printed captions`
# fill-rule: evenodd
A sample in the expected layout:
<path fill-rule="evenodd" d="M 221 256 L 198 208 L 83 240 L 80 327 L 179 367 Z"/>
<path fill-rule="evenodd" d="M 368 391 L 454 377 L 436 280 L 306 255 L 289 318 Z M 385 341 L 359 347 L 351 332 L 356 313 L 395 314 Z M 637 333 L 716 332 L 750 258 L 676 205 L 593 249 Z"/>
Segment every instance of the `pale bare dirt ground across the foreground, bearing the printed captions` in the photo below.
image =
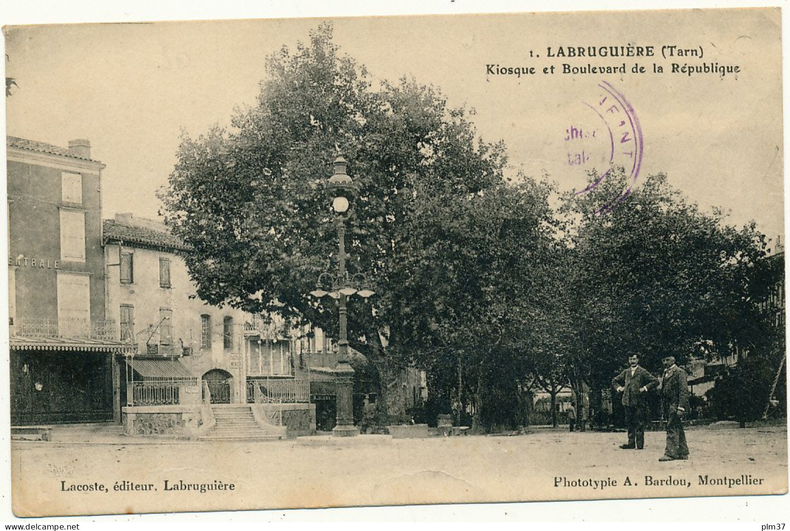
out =
<path fill-rule="evenodd" d="M 356 438 L 259 443 L 13 443 L 18 515 L 768 494 L 787 491 L 784 427 L 687 430 L 688 461 L 658 462 L 664 433 Z M 231 487 L 232 485 L 232 487 Z"/>

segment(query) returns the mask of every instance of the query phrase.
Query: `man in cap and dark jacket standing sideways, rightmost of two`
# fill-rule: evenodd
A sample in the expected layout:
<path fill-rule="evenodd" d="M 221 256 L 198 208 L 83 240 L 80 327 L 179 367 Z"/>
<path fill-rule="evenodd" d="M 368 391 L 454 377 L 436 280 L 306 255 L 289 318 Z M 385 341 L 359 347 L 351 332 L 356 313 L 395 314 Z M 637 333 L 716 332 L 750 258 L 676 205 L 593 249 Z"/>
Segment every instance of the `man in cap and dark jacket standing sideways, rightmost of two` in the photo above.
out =
<path fill-rule="evenodd" d="M 664 418 L 667 419 L 667 448 L 659 461 L 688 459 L 689 447 L 686 432 L 683 432 L 683 416 L 689 407 L 689 386 L 686 371 L 675 365 L 675 357 L 664 358 L 664 381 L 661 397 L 664 402 Z"/>

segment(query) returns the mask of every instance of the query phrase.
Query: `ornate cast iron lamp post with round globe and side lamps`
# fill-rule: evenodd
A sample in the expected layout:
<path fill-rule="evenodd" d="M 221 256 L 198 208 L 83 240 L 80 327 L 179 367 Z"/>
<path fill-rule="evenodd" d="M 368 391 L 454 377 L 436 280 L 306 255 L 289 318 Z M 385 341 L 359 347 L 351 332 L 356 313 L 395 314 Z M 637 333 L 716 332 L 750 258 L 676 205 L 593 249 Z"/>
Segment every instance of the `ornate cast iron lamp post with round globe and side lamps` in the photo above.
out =
<path fill-rule="evenodd" d="M 340 337 L 337 341 L 338 358 L 335 366 L 335 379 L 337 382 L 337 422 L 333 429 L 333 435 L 339 437 L 350 437 L 359 435 L 359 430 L 354 425 L 353 417 L 353 385 L 354 369 L 348 363 L 348 336 L 346 330 L 346 300 L 352 295 L 367 298 L 374 294 L 374 291 L 367 286 L 367 279 L 361 273 L 356 273 L 351 277 L 345 270 L 345 220 L 348 219 L 349 208 L 353 200 L 357 185 L 352 178 L 346 174 L 346 161 L 343 157 L 335 159 L 334 174 L 326 183 L 327 193 L 332 199 L 332 208 L 337 214 L 337 240 L 339 241 L 337 262 L 337 277 L 329 273 L 322 273 L 318 276 L 318 285 L 310 295 L 314 297 L 332 297 L 337 301 L 338 313 L 340 315 Z M 323 289 L 329 287 L 330 291 Z"/>

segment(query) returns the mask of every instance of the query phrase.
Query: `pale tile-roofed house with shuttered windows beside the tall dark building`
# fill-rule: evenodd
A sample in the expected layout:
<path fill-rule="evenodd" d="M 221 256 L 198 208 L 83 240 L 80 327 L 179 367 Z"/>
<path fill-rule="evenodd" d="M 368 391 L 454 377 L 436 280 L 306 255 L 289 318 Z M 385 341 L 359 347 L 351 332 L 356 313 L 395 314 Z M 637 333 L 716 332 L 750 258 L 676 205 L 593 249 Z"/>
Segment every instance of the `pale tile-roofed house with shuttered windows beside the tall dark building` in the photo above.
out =
<path fill-rule="evenodd" d="M 119 321 L 119 341 L 136 346 L 126 357 L 122 406 L 147 404 L 127 391 L 145 387 L 154 377 L 178 380 L 178 365 L 197 380 L 209 380 L 216 402 L 241 402 L 245 352 L 243 327 L 250 318 L 231 308 L 217 308 L 194 297 L 195 287 L 179 252 L 187 251 L 164 224 L 133 214 L 104 221 L 107 264 L 107 313 Z M 145 361 L 145 362 L 144 362 Z M 175 361 L 177 365 L 172 365 Z M 170 374 L 167 373 L 170 367 Z M 290 372 L 289 372 L 290 373 Z M 198 394 L 198 387 L 182 391 Z M 134 392 L 134 391 L 133 391 Z M 179 402 L 185 402 L 185 396 Z M 197 401 L 198 397 L 194 397 Z M 188 400 L 187 400 L 188 401 Z M 158 400 L 161 402 L 161 399 Z"/>

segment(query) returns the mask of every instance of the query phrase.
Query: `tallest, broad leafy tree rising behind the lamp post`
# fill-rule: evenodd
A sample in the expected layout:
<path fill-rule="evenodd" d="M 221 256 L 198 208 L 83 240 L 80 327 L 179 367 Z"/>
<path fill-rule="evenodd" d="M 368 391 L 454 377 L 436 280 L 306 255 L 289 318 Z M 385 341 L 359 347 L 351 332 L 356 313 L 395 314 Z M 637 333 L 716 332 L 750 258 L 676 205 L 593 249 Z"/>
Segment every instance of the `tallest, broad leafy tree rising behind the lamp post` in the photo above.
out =
<path fill-rule="evenodd" d="M 350 304 L 349 337 L 379 368 L 390 416 L 403 413 L 387 399 L 393 371 L 438 368 L 446 353 L 467 353 L 485 394 L 501 380 L 494 352 L 514 353 L 506 339 L 529 322 L 513 300 L 540 263 L 544 187 L 510 187 L 502 144 L 480 140 L 436 89 L 405 79 L 374 87 L 327 24 L 266 70 L 257 105 L 231 129 L 182 139 L 161 195 L 193 249 L 185 259 L 198 296 L 337 334 L 336 309 L 307 294 L 337 268 L 325 179 L 342 153 L 360 187 L 346 222 L 348 269 L 378 292 Z"/>

